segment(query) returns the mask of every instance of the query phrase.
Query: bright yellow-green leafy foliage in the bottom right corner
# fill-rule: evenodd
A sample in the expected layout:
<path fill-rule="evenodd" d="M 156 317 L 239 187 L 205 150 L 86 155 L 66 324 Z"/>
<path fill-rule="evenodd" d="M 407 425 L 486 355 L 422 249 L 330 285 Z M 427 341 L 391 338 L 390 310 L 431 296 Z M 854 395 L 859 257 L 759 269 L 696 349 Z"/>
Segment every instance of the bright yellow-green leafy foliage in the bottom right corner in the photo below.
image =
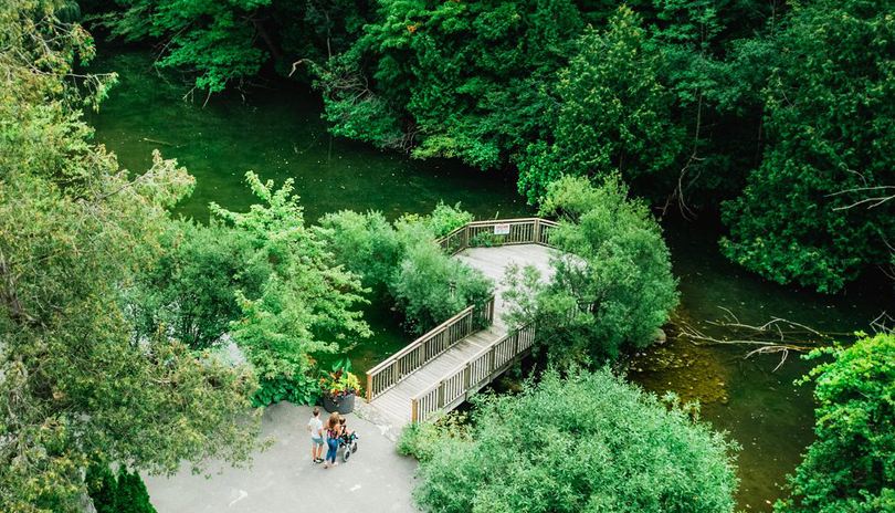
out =
<path fill-rule="evenodd" d="M 833 356 L 814 367 L 814 435 L 789 478 L 791 498 L 777 513 L 895 511 L 895 335 L 863 336 L 851 347 L 812 352 Z"/>

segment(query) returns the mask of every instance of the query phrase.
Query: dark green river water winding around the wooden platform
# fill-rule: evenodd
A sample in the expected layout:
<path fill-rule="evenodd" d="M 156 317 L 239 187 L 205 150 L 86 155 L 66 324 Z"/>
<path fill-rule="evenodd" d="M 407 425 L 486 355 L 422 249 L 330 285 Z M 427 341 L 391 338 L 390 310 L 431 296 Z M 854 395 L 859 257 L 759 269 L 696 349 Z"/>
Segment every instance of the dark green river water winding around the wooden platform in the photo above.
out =
<path fill-rule="evenodd" d="M 389 218 L 422 213 L 439 200 L 461 201 L 480 219 L 533 213 L 517 195 L 515 178 L 506 174 L 451 160 L 412 160 L 329 136 L 319 118 L 319 98 L 303 86 L 281 83 L 251 94 L 229 92 L 202 107 L 204 98 L 185 102 L 188 87 L 157 73 L 146 52 L 112 50 L 103 55 L 101 49 L 101 57 L 94 71 L 116 71 L 120 83 L 101 112 L 90 116 L 96 142 L 135 171 L 148 167 L 156 148 L 166 158 L 177 158 L 198 181 L 192 197 L 178 207 L 180 214 L 206 220 L 210 201 L 246 208 L 253 202 L 243 182 L 249 170 L 277 184 L 294 179 L 308 222 L 339 209 L 376 209 Z M 883 280 L 833 297 L 794 291 L 724 260 L 717 250 L 719 226 L 664 226 L 681 280 L 681 313 L 707 335 L 717 333 L 708 323 L 722 318 L 722 307 L 743 323 L 780 316 L 838 333 L 868 331 L 870 321 L 882 311 L 895 311 L 892 286 Z M 360 370 L 412 339 L 385 303 L 376 302 L 366 314 L 375 336 L 349 353 Z M 773 371 L 779 354 L 746 359 L 747 352 L 743 346 L 695 346 L 670 336 L 665 345 L 634 360 L 631 378 L 651 390 L 671 389 L 702 400 L 703 418 L 743 447 L 739 507 L 764 512 L 781 496 L 780 484 L 812 439 L 811 389 L 792 384 L 810 365 L 790 354 Z"/>

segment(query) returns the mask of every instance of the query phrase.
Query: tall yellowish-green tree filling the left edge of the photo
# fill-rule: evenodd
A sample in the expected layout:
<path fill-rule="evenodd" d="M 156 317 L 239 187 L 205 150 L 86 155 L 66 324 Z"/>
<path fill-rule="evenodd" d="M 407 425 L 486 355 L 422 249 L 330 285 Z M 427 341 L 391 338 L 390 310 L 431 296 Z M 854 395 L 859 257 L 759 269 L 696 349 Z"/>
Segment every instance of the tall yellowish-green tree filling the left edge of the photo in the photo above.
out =
<path fill-rule="evenodd" d="M 87 142 L 80 107 L 109 83 L 72 73 L 93 48 L 54 7 L 0 4 L 2 511 L 77 511 L 92 463 L 240 462 L 257 431 L 246 369 L 127 321 L 126 291 L 192 178 L 159 155 L 128 174 Z"/>

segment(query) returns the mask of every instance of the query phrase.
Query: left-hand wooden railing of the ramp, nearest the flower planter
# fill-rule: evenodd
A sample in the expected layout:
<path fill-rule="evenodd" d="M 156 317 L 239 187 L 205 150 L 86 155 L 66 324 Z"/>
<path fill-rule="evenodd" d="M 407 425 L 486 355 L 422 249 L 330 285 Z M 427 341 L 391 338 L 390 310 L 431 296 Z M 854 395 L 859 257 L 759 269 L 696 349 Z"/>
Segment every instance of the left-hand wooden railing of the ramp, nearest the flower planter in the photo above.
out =
<path fill-rule="evenodd" d="M 494 296 L 480 307 L 468 306 L 403 349 L 367 370 L 367 402 L 450 349 L 464 337 L 494 322 Z"/>

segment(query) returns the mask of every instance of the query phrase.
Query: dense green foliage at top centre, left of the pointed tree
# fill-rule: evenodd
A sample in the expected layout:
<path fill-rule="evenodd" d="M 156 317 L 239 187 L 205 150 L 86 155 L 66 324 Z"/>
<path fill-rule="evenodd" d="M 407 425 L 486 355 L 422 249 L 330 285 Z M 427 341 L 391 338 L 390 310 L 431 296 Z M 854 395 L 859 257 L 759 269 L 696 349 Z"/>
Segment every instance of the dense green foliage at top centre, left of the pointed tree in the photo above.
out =
<path fill-rule="evenodd" d="M 583 27 L 569 0 L 380 2 L 370 17 L 317 73 L 334 132 L 482 168 L 543 132 L 538 91 Z"/>

